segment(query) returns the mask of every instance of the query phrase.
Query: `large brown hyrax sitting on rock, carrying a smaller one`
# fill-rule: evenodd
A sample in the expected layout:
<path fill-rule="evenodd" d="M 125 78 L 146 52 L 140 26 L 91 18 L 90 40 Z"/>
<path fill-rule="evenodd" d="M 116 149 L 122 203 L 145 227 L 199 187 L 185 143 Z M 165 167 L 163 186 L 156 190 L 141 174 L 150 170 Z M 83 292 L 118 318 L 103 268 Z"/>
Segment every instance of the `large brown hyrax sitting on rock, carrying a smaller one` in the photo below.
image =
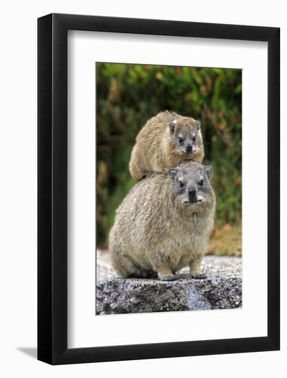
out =
<path fill-rule="evenodd" d="M 150 173 L 131 188 L 109 235 L 121 276 L 145 278 L 151 272 L 175 280 L 189 266 L 194 278 L 205 277 L 200 264 L 213 229 L 212 173 L 211 166 L 186 162 L 169 173 Z"/>

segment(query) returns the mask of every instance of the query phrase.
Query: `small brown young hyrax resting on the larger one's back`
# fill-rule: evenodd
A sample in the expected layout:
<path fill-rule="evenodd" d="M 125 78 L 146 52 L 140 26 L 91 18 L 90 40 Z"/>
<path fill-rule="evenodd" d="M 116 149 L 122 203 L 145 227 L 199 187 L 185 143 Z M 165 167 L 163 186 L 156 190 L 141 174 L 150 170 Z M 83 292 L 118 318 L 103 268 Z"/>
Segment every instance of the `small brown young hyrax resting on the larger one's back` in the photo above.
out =
<path fill-rule="evenodd" d="M 148 120 L 138 133 L 129 171 L 140 181 L 148 172 L 164 172 L 187 160 L 202 163 L 203 157 L 200 121 L 164 111 Z"/>

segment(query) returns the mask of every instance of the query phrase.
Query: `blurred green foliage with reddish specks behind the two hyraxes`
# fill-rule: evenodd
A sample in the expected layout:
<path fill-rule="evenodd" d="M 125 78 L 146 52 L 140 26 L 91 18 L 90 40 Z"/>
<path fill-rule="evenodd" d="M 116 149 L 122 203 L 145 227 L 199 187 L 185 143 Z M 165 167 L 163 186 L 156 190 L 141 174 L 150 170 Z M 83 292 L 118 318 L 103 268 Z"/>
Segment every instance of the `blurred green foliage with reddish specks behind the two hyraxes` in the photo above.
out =
<path fill-rule="evenodd" d="M 241 98 L 239 69 L 97 63 L 97 245 L 106 245 L 115 210 L 134 185 L 128 166 L 136 135 L 164 110 L 202 122 L 217 225 L 241 219 Z"/>

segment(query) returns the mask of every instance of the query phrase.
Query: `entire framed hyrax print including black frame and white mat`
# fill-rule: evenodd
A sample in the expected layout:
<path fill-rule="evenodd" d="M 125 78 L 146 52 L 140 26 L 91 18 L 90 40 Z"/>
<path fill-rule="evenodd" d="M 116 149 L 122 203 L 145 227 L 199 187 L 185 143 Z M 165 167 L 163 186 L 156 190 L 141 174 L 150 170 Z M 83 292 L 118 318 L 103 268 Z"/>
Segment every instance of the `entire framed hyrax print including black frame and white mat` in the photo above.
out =
<path fill-rule="evenodd" d="M 38 20 L 38 359 L 279 350 L 279 28 Z"/>

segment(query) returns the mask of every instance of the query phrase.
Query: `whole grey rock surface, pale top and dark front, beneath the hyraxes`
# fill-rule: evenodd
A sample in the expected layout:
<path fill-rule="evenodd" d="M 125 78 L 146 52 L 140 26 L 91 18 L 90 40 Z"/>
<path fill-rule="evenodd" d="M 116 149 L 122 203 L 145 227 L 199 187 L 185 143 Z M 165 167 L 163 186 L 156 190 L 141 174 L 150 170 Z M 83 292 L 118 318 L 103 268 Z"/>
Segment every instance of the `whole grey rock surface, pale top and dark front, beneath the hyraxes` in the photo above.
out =
<path fill-rule="evenodd" d="M 242 307 L 242 260 L 205 256 L 207 277 L 191 278 L 187 269 L 172 282 L 118 278 L 109 254 L 97 252 L 96 314 L 234 309 Z"/>

